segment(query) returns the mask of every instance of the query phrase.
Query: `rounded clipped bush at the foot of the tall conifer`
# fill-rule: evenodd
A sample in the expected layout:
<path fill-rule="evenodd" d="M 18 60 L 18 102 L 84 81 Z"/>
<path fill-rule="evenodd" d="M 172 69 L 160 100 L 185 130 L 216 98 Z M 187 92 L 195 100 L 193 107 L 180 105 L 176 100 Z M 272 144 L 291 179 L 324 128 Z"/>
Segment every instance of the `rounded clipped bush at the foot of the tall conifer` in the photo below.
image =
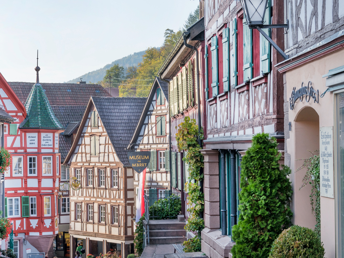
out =
<path fill-rule="evenodd" d="M 283 230 L 273 242 L 269 258 L 323 258 L 324 247 L 316 232 L 297 225 Z"/>

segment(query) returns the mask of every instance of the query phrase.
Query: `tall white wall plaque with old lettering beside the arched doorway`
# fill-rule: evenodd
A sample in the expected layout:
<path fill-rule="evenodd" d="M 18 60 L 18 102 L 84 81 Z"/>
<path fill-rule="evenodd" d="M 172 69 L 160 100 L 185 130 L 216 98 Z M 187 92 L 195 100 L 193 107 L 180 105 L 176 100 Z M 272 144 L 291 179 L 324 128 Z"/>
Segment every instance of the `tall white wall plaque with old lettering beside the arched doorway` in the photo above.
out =
<path fill-rule="evenodd" d="M 333 196 L 333 127 L 320 127 L 320 195 Z"/>

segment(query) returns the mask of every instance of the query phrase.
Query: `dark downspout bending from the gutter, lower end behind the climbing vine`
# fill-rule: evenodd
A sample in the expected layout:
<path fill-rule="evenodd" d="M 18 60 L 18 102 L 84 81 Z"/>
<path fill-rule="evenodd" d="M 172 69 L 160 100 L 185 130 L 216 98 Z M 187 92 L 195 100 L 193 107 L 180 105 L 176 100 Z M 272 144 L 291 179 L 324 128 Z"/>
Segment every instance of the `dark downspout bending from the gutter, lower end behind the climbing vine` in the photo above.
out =
<path fill-rule="evenodd" d="M 186 39 L 187 36 L 190 34 L 190 32 L 184 31 L 183 33 L 183 40 L 184 40 L 184 45 L 189 48 L 192 49 L 196 52 L 196 87 L 197 87 L 197 113 L 198 113 L 198 135 L 201 134 L 201 90 L 200 90 L 200 66 L 198 64 L 198 49 L 192 45 L 187 44 Z M 198 138 L 198 144 L 200 144 L 200 147 L 202 147 L 202 140 L 200 138 Z M 203 169 L 200 169 L 200 175 L 203 174 Z M 201 193 L 203 193 L 203 180 L 200 180 L 200 186 L 201 186 Z M 203 212 L 200 212 L 200 217 L 203 218 Z"/>

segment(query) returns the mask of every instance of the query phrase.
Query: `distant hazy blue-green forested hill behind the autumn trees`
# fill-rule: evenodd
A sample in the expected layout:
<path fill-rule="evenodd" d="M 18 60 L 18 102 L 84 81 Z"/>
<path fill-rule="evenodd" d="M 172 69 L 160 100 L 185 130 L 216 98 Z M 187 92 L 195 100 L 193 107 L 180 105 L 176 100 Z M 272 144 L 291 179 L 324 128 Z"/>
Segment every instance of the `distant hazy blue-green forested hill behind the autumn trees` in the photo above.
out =
<path fill-rule="evenodd" d="M 133 54 L 130 54 L 126 57 L 122 57 L 118 60 L 115 60 L 111 64 L 105 65 L 103 68 L 100 68 L 96 71 L 89 72 L 87 74 L 80 75 L 76 77 L 73 80 L 69 80 L 67 83 L 76 83 L 80 81 L 80 78 L 83 78 L 84 82 L 92 82 L 97 83 L 100 80 L 103 80 L 104 75 L 106 73 L 106 70 L 109 69 L 114 64 L 119 64 L 120 66 L 123 66 L 125 69 L 129 66 L 137 66 L 138 63 L 142 62 L 142 55 L 146 52 L 146 50 L 135 52 Z"/>

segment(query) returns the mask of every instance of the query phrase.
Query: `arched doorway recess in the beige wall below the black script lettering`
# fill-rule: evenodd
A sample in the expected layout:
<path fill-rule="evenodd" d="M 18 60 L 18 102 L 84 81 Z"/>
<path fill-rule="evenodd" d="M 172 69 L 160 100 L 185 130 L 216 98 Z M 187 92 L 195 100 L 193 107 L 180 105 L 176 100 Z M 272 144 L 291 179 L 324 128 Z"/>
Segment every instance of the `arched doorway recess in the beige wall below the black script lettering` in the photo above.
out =
<path fill-rule="evenodd" d="M 302 159 L 309 159 L 313 152 L 318 155 L 319 152 L 319 115 L 311 107 L 305 107 L 299 111 L 294 121 L 295 129 L 295 166 L 296 171 L 303 165 Z M 307 168 L 293 172 L 293 199 L 292 209 L 294 212 L 293 224 L 314 229 L 316 224 L 312 206 L 310 203 L 311 185 L 307 184 L 300 187 L 303 183 Z"/>

